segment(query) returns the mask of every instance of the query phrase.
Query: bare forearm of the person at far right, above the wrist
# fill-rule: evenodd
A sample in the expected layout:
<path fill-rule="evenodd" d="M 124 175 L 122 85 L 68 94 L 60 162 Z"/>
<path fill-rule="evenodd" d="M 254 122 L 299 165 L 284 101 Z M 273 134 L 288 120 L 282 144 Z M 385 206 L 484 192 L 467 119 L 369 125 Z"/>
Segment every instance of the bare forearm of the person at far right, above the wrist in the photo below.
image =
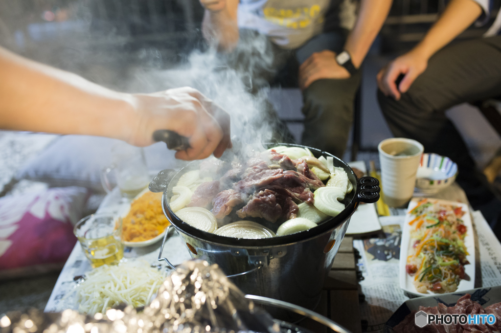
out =
<path fill-rule="evenodd" d="M 451 0 L 438 21 L 413 51 L 421 54 L 424 59 L 429 59 L 471 26 L 481 14 L 482 9 L 472 0 Z"/>

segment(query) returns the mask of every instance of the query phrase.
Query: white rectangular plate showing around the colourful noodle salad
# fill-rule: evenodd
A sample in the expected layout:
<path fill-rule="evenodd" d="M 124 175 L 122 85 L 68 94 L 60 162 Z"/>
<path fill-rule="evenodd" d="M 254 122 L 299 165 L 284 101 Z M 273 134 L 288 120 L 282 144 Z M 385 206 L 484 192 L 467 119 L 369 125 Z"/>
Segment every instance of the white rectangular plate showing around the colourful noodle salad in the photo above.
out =
<path fill-rule="evenodd" d="M 428 293 L 418 292 L 413 283 L 414 276 L 407 274 L 407 271 L 405 270 L 405 265 L 407 264 L 407 256 L 409 255 L 408 253 L 410 251 L 410 247 L 412 246 L 412 241 L 410 239 L 411 226 L 409 225 L 409 222 L 412 221 L 413 217 L 412 215 L 409 214 L 409 212 L 412 209 L 414 209 L 414 207 L 416 207 L 419 199 L 421 198 L 413 198 L 409 202 L 409 207 L 407 208 L 407 214 L 405 215 L 405 222 L 402 229 L 402 242 L 400 243 L 400 261 L 399 261 L 400 288 L 402 288 L 404 292 L 416 296 L 438 295 L 438 293 L 435 293 L 430 290 L 428 290 Z M 466 251 L 468 251 L 466 259 L 469 261 L 469 264 L 464 266 L 464 272 L 469 277 L 469 280 L 465 279 L 460 280 L 456 292 L 473 289 L 475 284 L 475 238 L 473 236 L 473 226 L 471 225 L 471 217 L 470 217 L 471 215 L 469 213 L 468 205 L 460 202 L 452 202 L 438 199 L 430 199 L 430 200 L 461 206 L 462 211 L 465 212 L 464 215 L 462 216 L 462 220 L 464 222 L 464 226 L 466 226 L 466 236 L 464 237 L 464 245 L 466 246 Z"/>

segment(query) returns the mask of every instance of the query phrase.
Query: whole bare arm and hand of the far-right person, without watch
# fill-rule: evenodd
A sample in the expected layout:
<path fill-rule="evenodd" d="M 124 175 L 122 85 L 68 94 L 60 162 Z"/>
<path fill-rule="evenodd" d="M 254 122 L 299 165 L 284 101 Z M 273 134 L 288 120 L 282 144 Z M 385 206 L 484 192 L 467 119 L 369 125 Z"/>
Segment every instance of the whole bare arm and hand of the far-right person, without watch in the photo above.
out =
<path fill-rule="evenodd" d="M 471 26 L 481 14 L 481 7 L 472 0 L 451 0 L 423 40 L 378 73 L 379 89 L 386 96 L 400 99 L 401 93 L 409 90 L 414 80 L 426 70 L 431 56 Z M 397 87 L 395 81 L 400 74 L 404 78 Z"/>

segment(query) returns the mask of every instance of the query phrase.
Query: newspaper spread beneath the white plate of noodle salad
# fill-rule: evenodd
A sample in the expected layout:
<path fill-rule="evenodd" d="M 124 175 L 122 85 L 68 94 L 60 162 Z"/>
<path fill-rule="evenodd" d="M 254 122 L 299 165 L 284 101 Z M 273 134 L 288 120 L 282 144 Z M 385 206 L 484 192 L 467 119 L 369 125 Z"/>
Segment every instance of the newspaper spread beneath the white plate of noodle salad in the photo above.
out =
<path fill-rule="evenodd" d="M 501 244 L 479 211 L 472 213 L 478 236 L 481 285 L 501 285 Z M 367 332 L 382 332 L 384 323 L 407 299 L 399 286 L 400 239 L 404 215 L 382 216 L 380 222 L 385 238 L 355 240 L 360 252 L 358 267 L 364 279 L 360 281 L 365 301 L 360 304 Z M 478 266 L 477 266 L 478 267 Z"/>

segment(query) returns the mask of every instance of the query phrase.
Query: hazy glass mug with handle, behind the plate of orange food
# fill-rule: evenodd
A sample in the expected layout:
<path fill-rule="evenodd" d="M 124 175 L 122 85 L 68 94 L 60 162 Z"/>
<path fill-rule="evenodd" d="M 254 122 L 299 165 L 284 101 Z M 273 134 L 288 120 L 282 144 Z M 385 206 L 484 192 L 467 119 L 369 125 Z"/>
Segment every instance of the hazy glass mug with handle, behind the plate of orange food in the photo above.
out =
<path fill-rule="evenodd" d="M 110 176 L 120 189 L 122 197 L 132 199 L 150 182 L 144 151 L 126 143 L 119 143 L 112 148 L 112 165 L 101 172 L 101 183 L 109 193 L 113 190 Z"/>

